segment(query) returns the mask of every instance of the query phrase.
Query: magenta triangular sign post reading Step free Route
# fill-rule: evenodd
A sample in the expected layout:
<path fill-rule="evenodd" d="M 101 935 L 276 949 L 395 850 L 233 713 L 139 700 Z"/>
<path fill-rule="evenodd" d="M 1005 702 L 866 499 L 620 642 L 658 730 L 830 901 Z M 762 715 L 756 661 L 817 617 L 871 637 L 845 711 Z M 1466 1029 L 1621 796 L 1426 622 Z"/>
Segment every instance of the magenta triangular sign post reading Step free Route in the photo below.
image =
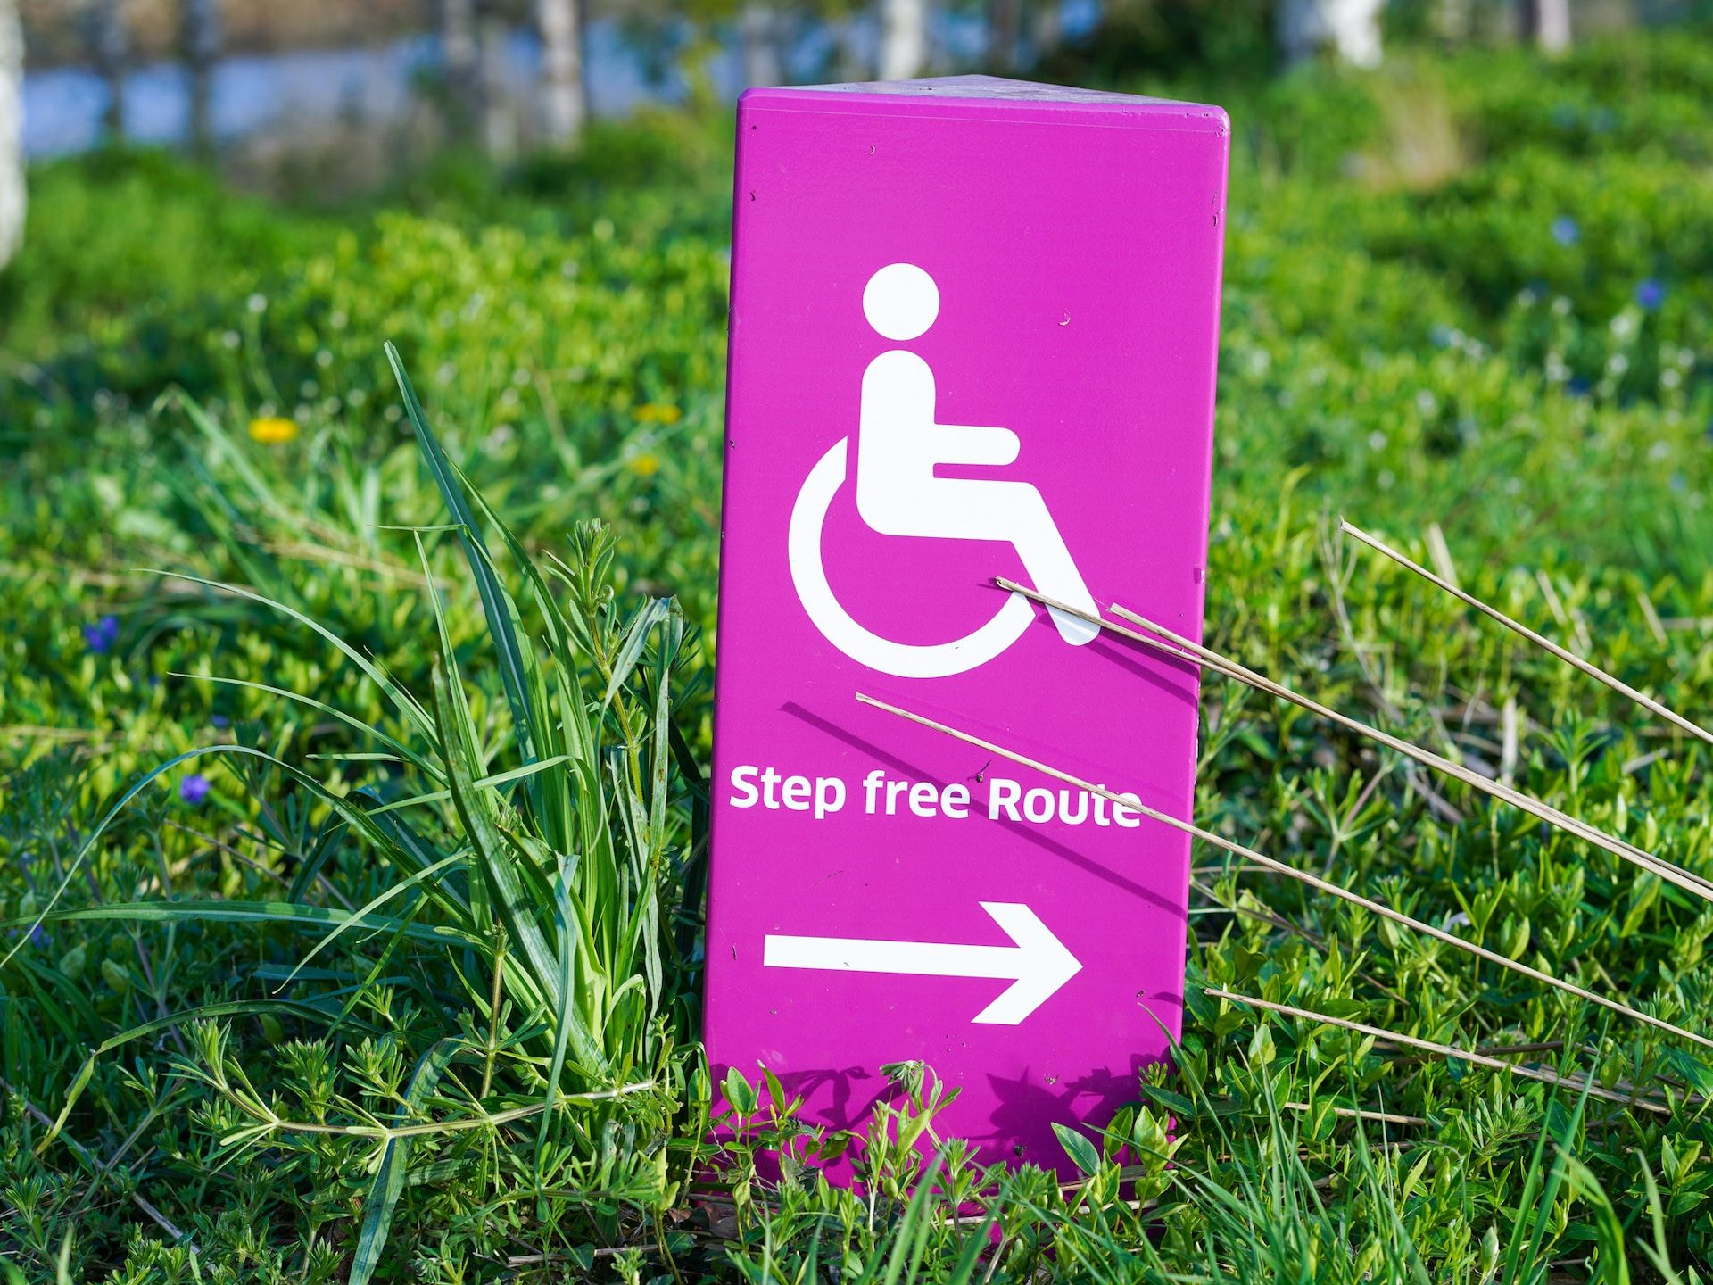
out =
<path fill-rule="evenodd" d="M 1228 130 L 985 77 L 738 108 L 707 1052 L 860 1127 L 887 1062 L 983 1162 L 1137 1097 L 1189 840 Z"/>

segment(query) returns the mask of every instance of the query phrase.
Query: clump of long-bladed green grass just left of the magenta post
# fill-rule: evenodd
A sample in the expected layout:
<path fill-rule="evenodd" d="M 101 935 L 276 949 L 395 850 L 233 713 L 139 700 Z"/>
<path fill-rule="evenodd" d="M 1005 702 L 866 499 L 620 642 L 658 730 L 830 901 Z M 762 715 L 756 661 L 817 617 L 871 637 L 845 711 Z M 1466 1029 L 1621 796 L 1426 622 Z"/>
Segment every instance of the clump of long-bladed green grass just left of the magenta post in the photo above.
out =
<path fill-rule="evenodd" d="M 373 951 L 368 982 L 406 942 L 445 951 L 444 978 L 433 990 L 444 995 L 449 987 L 459 1001 L 423 995 L 430 1001 L 416 1014 L 423 1021 L 394 1016 L 387 1023 L 394 1030 L 379 1043 L 365 1040 L 356 1066 L 346 1066 L 344 1074 L 367 1086 L 361 1095 L 320 1088 L 298 1095 L 312 1119 L 288 1119 L 274 1095 L 254 1086 L 221 1025 L 195 1026 L 194 1054 L 175 1062 L 180 1079 L 212 1093 L 209 1121 L 219 1124 L 221 1153 L 267 1146 L 325 1158 L 336 1170 L 358 1163 L 373 1172 L 353 1280 L 367 1280 L 380 1259 L 413 1150 L 435 1146 L 440 1163 L 456 1163 L 471 1146 L 492 1146 L 504 1126 L 531 1121 L 538 1122 L 529 1150 L 540 1182 L 567 1182 L 594 1167 L 603 1189 L 658 1204 L 670 1201 L 683 1172 L 682 1156 L 675 1163 L 660 1136 L 661 1112 L 706 1102 L 706 1091 L 690 1091 L 692 1073 L 677 1052 L 689 1035 L 685 987 L 668 985 L 683 966 L 670 918 L 682 896 L 668 898 L 668 889 L 694 877 L 706 843 L 689 829 L 690 812 L 699 812 L 685 795 L 697 788 L 695 766 L 671 732 L 690 646 L 682 613 L 671 601 L 653 600 L 620 619 L 608 588 L 610 538 L 598 526 L 581 528 L 569 557 L 543 571 L 481 497 L 468 492 L 396 356 L 394 367 L 425 466 L 452 519 L 442 529 L 456 535 L 476 586 L 505 714 L 466 690 L 432 579 L 427 593 L 439 654 L 427 699 L 288 603 L 230 589 L 313 629 L 385 696 L 401 735 L 363 725 L 310 694 L 281 692 L 349 725 L 358 744 L 377 747 L 339 757 L 389 761 L 411 771 L 387 788 L 334 793 L 260 749 L 190 750 L 146 773 L 108 819 L 194 757 L 257 759 L 266 774 L 254 783 L 271 785 L 278 773 L 325 809 L 313 843 L 300 852 L 286 900 L 60 910 L 57 891 L 24 925 L 39 932 L 89 918 L 219 918 L 320 932 L 281 985 L 296 982 L 346 934 L 373 942 L 360 951 Z M 495 571 L 473 505 L 522 572 L 526 601 L 541 629 L 534 642 L 522 632 L 519 603 Z M 425 535 L 418 531 L 418 543 Z M 427 572 L 427 557 L 423 565 Z M 690 778 L 682 774 L 685 768 Z M 72 857 L 60 891 L 104 829 L 96 828 Z M 380 891 L 356 908 L 349 898 L 343 908 L 327 908 L 305 896 L 341 833 L 360 841 L 384 874 Z M 343 1007 L 329 1014 L 336 1031 L 351 1004 Z M 257 1011 L 267 1016 L 267 1006 Z M 435 1025 L 445 1033 L 409 1052 L 423 1028 Z M 406 1057 L 415 1059 L 408 1073 Z M 301 1074 L 305 1085 L 320 1086 L 332 1074 L 325 1045 L 298 1045 L 288 1061 L 308 1066 L 315 1059 L 319 1071 Z M 476 1074 L 480 1088 L 461 1071 Z M 392 1102 L 396 1117 L 387 1119 L 379 1103 Z M 341 1110 L 353 1121 L 329 1119 Z M 639 1119 L 654 1121 L 654 1141 L 625 1145 Z M 468 1141 L 476 1134 L 485 1143 Z M 373 1153 L 367 1160 L 346 1155 L 346 1143 Z"/>

